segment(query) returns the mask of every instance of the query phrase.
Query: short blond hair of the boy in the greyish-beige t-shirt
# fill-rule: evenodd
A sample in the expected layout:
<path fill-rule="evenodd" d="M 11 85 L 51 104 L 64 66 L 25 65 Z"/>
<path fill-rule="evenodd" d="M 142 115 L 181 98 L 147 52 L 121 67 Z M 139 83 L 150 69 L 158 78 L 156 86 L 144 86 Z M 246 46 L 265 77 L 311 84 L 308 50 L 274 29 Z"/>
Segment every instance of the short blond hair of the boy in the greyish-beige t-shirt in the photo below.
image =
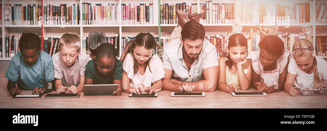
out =
<path fill-rule="evenodd" d="M 81 49 L 81 40 L 79 36 L 73 33 L 65 33 L 59 39 L 59 48 L 66 46 L 67 48 L 77 48 L 77 52 Z"/>

